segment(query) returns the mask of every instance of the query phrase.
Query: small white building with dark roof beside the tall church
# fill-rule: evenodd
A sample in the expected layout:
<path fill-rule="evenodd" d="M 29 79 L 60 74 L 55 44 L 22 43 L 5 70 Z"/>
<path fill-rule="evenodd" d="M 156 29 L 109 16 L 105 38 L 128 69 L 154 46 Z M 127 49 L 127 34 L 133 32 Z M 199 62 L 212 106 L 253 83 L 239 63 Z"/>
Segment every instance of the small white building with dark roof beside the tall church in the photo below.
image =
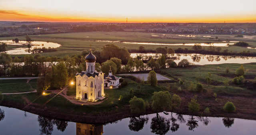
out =
<path fill-rule="evenodd" d="M 115 75 L 112 75 L 111 67 L 108 72 L 108 75 L 104 75 L 104 86 L 110 87 L 110 86 L 117 86 L 119 85 L 119 79 L 121 77 L 116 77 Z"/>

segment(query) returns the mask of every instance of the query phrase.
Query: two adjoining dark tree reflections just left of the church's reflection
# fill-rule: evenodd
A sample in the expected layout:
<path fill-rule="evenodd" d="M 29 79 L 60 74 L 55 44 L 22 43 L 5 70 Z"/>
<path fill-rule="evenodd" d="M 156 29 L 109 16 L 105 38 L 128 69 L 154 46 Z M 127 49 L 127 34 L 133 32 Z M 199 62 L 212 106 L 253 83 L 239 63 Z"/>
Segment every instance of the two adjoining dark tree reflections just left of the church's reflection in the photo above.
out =
<path fill-rule="evenodd" d="M 39 116 L 39 115 L 38 115 L 38 122 L 39 122 L 39 126 L 41 127 L 40 135 L 43 135 L 43 134 L 51 135 L 54 124 L 57 126 L 57 129 L 62 132 L 65 131 L 66 127 L 68 126 L 67 121 L 60 121 L 57 119 L 51 119 L 51 118 Z"/>

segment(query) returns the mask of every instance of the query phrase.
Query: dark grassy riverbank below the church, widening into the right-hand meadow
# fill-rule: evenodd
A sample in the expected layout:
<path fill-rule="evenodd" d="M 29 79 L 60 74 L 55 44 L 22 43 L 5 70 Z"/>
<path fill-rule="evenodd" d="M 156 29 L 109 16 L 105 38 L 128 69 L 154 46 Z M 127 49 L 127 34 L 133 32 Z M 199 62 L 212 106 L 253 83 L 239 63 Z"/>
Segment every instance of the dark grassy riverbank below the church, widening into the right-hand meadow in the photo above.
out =
<path fill-rule="evenodd" d="M 45 96 L 40 96 L 36 93 L 4 95 L 4 101 L 0 105 L 66 121 L 108 123 L 134 116 L 130 113 L 128 103 L 131 98 L 129 91 L 132 88 L 135 96 L 141 97 L 149 103 L 152 103 L 151 97 L 154 91 L 169 91 L 171 95 L 179 95 L 182 99 L 181 107 L 173 110 L 175 113 L 256 120 L 256 81 L 254 80 L 256 77 L 256 63 L 243 65 L 246 70 L 244 75 L 246 82 L 242 85 L 235 85 L 231 82 L 235 77 L 236 69 L 241 64 L 196 65 L 189 68 L 166 68 L 156 71 L 175 80 L 177 78 L 182 79 L 184 81 L 183 85 L 168 82 L 158 83 L 158 86 L 151 86 L 137 83 L 135 78 L 124 77 L 128 81 L 128 85 L 119 89 L 106 89 L 105 93 L 108 95 L 108 99 L 98 105 L 74 105 L 61 95 L 54 97 L 53 93 Z M 229 67 L 229 73 L 226 73 L 226 67 Z M 205 80 L 208 72 L 212 74 L 212 83 L 210 85 Z M 204 86 L 204 91 L 200 93 L 188 91 L 190 84 L 196 83 L 196 78 Z M 226 80 L 229 81 L 228 86 L 224 85 Z M 140 85 L 140 90 L 137 89 L 138 85 Z M 180 87 L 181 90 L 175 87 Z M 214 97 L 214 93 L 216 93 L 216 97 Z M 122 101 L 118 100 L 120 95 L 124 97 Z M 191 113 L 188 111 L 188 102 L 195 95 L 200 104 L 200 111 Z M 232 101 L 236 106 L 234 113 L 224 111 L 223 106 L 227 101 Z M 203 113 L 206 107 L 210 109 L 210 115 Z M 167 109 L 166 111 L 171 110 Z M 148 109 L 141 115 L 151 113 L 156 112 Z"/>

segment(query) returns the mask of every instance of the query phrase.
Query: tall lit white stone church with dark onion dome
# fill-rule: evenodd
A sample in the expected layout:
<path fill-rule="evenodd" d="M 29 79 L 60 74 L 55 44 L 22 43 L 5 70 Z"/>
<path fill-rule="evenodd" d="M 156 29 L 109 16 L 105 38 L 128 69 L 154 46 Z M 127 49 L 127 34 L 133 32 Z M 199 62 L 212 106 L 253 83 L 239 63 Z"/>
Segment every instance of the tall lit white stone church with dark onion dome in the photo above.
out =
<path fill-rule="evenodd" d="M 95 70 L 96 57 L 91 50 L 85 61 L 86 71 L 76 74 L 76 99 L 96 101 L 104 96 L 104 73 Z"/>

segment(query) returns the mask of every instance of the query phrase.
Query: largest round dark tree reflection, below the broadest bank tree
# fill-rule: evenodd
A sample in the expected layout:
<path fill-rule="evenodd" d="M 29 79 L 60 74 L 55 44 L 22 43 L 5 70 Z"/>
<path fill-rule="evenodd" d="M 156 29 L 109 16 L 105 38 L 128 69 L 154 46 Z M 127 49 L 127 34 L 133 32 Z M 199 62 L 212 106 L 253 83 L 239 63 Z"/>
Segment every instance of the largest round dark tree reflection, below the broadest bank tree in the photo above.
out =
<path fill-rule="evenodd" d="M 157 116 L 153 117 L 151 120 L 151 132 L 158 135 L 164 135 L 170 130 L 170 119 L 166 119 L 165 117 L 159 116 L 158 114 L 156 115 Z"/>

